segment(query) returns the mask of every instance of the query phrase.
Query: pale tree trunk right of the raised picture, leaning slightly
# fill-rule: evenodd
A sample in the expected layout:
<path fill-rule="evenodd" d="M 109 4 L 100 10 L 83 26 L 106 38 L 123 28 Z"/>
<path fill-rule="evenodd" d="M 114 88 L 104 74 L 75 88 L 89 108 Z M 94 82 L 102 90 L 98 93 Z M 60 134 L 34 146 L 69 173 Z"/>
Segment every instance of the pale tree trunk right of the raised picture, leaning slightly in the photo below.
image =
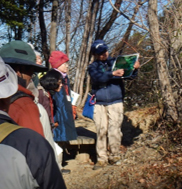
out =
<path fill-rule="evenodd" d="M 168 121 L 176 122 L 178 120 L 178 113 L 169 80 L 168 68 L 165 61 L 165 51 L 159 34 L 157 0 L 149 0 L 148 19 L 150 35 L 155 51 L 158 77 L 164 102 L 165 118 Z"/>

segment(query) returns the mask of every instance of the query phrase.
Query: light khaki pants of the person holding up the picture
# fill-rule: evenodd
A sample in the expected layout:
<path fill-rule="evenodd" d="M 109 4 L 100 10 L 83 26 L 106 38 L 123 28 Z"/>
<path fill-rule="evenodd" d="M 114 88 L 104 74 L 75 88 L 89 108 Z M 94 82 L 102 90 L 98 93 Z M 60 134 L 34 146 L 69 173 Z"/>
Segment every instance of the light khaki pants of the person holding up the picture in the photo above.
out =
<path fill-rule="evenodd" d="M 97 161 L 112 160 L 120 156 L 123 122 L 123 103 L 108 106 L 96 104 L 94 122 L 97 130 Z"/>

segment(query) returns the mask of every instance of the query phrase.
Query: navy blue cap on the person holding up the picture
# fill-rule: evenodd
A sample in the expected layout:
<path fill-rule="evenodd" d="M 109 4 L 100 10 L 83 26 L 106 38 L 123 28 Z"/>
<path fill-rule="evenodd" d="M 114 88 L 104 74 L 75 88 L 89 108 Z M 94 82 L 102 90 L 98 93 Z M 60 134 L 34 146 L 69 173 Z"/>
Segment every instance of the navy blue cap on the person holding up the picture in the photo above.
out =
<path fill-rule="evenodd" d="M 108 46 L 101 39 L 97 39 L 93 42 L 91 46 L 91 52 L 93 54 L 102 54 L 108 50 Z"/>

